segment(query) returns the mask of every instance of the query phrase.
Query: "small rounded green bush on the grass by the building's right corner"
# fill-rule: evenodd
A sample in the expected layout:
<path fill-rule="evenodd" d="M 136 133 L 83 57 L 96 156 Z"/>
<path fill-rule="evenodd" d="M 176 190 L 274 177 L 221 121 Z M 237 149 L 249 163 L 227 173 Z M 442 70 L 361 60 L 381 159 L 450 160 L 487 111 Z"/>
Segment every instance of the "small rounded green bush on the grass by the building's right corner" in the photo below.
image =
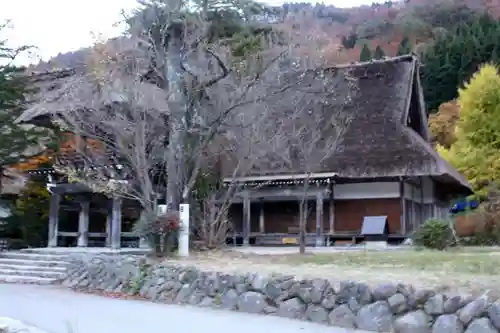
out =
<path fill-rule="evenodd" d="M 428 249 L 445 250 L 455 245 L 455 237 L 446 220 L 427 220 L 413 236 L 414 244 Z"/>

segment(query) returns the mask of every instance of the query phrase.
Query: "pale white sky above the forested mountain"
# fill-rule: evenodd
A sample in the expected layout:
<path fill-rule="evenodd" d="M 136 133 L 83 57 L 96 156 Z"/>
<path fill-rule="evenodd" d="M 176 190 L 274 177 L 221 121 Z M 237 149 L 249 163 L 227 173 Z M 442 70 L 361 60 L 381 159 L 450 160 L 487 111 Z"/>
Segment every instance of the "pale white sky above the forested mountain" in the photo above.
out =
<path fill-rule="evenodd" d="M 283 1 L 266 0 L 280 5 Z M 299 2 L 299 1 L 297 1 Z M 304 2 L 307 2 L 305 0 Z M 315 1 L 314 1 L 315 2 Z M 325 0 L 325 4 L 352 7 L 371 0 Z M 123 30 L 121 10 L 130 11 L 136 0 L 0 0 L 0 22 L 10 20 L 2 33 L 10 46 L 32 45 L 36 49 L 17 59 L 18 64 L 48 60 L 59 52 L 90 46 L 96 37 L 110 38 Z"/>

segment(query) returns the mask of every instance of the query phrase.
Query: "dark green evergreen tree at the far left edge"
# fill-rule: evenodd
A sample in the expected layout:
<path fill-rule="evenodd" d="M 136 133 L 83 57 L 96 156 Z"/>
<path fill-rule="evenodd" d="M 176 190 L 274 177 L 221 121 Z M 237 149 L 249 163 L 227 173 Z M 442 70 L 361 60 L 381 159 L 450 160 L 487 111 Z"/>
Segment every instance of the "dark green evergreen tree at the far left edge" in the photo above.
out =
<path fill-rule="evenodd" d="M 0 31 L 6 24 L 0 25 Z M 47 133 L 37 128 L 28 129 L 15 123 L 23 112 L 26 94 L 30 93 L 23 68 L 13 65 L 16 56 L 27 47 L 9 48 L 0 41 L 0 191 L 5 169 L 20 160 L 40 152 L 40 141 Z"/>

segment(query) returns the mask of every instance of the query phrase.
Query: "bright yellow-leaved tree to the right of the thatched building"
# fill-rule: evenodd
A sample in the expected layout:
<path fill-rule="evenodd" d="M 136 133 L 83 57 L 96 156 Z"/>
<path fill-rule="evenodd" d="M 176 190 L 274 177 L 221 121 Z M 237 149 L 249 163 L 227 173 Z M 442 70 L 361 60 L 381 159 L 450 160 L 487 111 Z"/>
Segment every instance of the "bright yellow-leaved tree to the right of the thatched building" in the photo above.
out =
<path fill-rule="evenodd" d="M 483 65 L 459 89 L 459 118 L 455 141 L 440 154 L 471 182 L 484 197 L 500 181 L 500 74 L 494 65 Z"/>

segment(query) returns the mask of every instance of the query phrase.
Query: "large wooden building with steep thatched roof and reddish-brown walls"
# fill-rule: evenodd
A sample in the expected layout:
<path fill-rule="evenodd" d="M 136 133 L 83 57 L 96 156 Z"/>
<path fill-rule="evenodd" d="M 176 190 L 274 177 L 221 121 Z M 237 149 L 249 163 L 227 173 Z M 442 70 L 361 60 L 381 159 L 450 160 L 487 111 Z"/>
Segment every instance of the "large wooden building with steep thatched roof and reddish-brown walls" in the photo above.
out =
<path fill-rule="evenodd" d="M 231 242 L 295 242 L 304 181 L 310 183 L 309 245 L 360 237 L 365 216 L 386 216 L 389 236 L 403 239 L 425 220 L 446 217 L 454 198 L 471 194 L 467 180 L 430 144 L 416 57 L 338 70 L 349 71 L 359 90 L 339 147 L 313 173 L 269 168 L 237 179 L 244 190 L 230 207 Z"/>

